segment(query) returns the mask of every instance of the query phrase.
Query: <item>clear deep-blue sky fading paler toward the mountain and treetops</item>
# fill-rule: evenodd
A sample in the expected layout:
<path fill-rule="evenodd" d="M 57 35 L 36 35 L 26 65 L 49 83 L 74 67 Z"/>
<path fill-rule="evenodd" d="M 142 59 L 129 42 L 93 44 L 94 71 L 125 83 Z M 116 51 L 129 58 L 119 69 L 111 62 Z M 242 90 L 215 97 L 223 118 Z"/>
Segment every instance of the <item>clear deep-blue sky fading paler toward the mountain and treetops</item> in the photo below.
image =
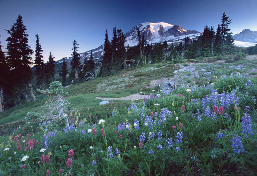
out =
<path fill-rule="evenodd" d="M 104 43 L 105 29 L 128 32 L 143 22 L 166 22 L 186 30 L 203 31 L 204 25 L 221 23 L 225 11 L 233 34 L 243 29 L 257 31 L 257 0 L 0 0 L 0 41 L 3 51 L 13 22 L 20 14 L 35 51 L 35 35 L 40 37 L 44 60 L 49 52 L 55 60 L 70 57 L 72 41 L 78 41 L 79 53 Z M 34 57 L 34 56 L 33 56 Z"/>

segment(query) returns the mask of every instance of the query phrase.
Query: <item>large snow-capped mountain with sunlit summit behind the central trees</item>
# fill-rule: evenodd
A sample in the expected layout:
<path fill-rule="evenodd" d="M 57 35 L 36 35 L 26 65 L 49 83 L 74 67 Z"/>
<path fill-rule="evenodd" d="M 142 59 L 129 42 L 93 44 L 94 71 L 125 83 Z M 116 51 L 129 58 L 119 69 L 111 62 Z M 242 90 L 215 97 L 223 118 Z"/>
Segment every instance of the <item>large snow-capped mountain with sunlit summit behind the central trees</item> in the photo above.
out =
<path fill-rule="evenodd" d="M 146 44 L 154 44 L 158 42 L 167 41 L 168 44 L 171 43 L 179 43 L 183 41 L 185 37 L 190 37 L 193 39 L 194 37 L 199 36 L 201 33 L 196 30 L 185 30 L 181 26 L 172 25 L 168 23 L 141 23 L 137 26 L 133 27 L 127 33 L 124 34 L 125 46 L 129 44 L 129 46 L 134 46 L 138 44 L 138 37 L 137 37 L 137 28 L 140 30 L 141 37 L 144 34 L 146 39 Z M 104 37 L 104 36 L 103 36 Z M 92 49 L 94 62 L 99 64 L 104 56 L 104 45 L 99 46 L 98 48 Z M 89 58 L 90 51 L 86 51 L 80 53 L 80 62 L 83 63 L 84 57 L 87 56 Z M 67 65 L 69 67 L 72 57 L 65 58 Z M 56 65 L 61 65 L 62 59 L 56 61 Z M 61 67 L 61 66 L 60 66 Z M 57 71 L 58 72 L 58 71 Z"/>

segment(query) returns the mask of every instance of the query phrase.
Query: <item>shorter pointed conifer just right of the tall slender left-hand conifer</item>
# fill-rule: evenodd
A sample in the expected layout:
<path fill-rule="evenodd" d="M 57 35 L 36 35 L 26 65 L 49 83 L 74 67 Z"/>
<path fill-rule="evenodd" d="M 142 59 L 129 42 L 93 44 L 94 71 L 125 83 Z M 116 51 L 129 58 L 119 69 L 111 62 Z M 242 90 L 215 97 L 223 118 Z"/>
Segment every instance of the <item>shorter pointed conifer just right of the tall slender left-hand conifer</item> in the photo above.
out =
<path fill-rule="evenodd" d="M 46 63 L 45 67 L 45 79 L 47 86 L 54 81 L 54 74 L 55 74 L 55 61 L 54 56 L 52 56 L 51 52 L 49 54 L 48 62 Z M 46 86 L 46 87 L 47 87 Z"/>

